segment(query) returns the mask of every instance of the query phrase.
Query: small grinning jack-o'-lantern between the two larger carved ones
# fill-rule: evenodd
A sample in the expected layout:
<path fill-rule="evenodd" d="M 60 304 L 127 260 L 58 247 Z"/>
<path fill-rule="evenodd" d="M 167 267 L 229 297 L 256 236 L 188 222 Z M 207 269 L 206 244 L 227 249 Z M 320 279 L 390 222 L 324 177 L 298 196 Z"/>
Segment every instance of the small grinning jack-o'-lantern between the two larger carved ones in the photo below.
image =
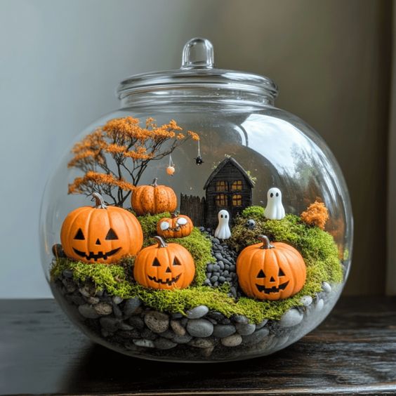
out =
<path fill-rule="evenodd" d="M 136 282 L 152 289 L 184 289 L 194 279 L 194 259 L 185 247 L 166 244 L 154 237 L 158 244 L 142 249 L 135 260 L 133 276 Z"/>

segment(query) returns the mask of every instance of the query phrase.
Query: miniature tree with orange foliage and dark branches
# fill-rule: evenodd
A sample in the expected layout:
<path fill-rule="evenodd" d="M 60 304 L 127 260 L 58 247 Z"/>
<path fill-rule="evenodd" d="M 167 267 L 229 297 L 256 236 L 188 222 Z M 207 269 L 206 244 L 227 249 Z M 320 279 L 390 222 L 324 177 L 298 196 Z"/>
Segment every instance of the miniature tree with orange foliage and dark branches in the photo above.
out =
<path fill-rule="evenodd" d="M 69 194 L 107 194 L 116 206 L 124 202 L 138 185 L 150 161 L 171 154 L 188 138 L 199 140 L 197 133 L 182 133 L 176 121 L 157 126 L 154 119 L 123 117 L 107 121 L 72 148 L 74 157 L 69 168 L 77 168 L 84 176 L 69 185 Z"/>

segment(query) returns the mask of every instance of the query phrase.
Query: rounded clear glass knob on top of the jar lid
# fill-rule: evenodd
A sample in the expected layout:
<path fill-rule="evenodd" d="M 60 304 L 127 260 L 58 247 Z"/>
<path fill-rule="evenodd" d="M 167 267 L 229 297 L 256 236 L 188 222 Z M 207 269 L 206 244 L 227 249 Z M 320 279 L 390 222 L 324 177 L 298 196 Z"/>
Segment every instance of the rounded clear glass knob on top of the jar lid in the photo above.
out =
<path fill-rule="evenodd" d="M 187 41 L 183 48 L 181 69 L 211 69 L 213 65 L 213 45 L 209 40 L 196 37 Z"/>

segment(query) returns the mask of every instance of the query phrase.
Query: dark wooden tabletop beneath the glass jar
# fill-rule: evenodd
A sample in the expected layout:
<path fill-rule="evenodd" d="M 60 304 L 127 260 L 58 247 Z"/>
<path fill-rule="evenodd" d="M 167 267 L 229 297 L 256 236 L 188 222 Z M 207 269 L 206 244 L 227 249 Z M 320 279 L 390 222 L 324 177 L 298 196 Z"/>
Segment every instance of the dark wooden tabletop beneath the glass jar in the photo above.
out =
<path fill-rule="evenodd" d="M 91 343 L 52 300 L 0 300 L 0 395 L 350 395 L 396 393 L 396 298 L 341 298 L 275 355 L 170 364 Z"/>

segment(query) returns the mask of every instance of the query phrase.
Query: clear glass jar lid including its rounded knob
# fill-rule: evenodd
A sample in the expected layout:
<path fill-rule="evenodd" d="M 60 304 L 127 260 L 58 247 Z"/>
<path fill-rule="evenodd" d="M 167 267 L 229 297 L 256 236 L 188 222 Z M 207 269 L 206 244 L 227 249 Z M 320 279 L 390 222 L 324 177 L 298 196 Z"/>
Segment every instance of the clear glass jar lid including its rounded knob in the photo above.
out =
<path fill-rule="evenodd" d="M 256 95 L 277 96 L 272 79 L 214 66 L 213 45 L 207 39 L 194 38 L 183 48 L 182 65 L 178 70 L 136 74 L 121 81 L 117 88 L 119 99 L 131 93 L 166 89 L 209 88 L 244 91 Z"/>

